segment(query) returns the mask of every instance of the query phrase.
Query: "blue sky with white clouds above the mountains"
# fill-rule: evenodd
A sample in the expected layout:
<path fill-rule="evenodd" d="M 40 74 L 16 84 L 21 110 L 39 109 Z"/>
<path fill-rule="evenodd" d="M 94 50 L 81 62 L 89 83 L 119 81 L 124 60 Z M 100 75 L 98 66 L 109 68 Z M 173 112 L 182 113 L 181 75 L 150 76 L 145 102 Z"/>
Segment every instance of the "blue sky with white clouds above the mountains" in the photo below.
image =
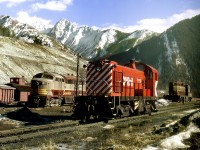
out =
<path fill-rule="evenodd" d="M 0 0 L 0 8 L 0 15 L 31 25 L 65 18 L 78 26 L 163 32 L 200 14 L 200 0 Z"/>

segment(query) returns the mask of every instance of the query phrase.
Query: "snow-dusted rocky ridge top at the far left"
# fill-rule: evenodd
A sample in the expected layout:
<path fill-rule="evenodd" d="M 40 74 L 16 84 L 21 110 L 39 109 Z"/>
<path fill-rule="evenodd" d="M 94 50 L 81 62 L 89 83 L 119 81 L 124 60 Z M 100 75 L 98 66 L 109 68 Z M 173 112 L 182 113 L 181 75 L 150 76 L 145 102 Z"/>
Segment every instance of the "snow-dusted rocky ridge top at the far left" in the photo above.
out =
<path fill-rule="evenodd" d="M 39 43 L 52 47 L 53 43 L 46 34 L 40 33 L 28 24 L 20 23 L 10 16 L 0 16 L 0 25 L 9 28 L 16 37 L 28 43 Z"/>

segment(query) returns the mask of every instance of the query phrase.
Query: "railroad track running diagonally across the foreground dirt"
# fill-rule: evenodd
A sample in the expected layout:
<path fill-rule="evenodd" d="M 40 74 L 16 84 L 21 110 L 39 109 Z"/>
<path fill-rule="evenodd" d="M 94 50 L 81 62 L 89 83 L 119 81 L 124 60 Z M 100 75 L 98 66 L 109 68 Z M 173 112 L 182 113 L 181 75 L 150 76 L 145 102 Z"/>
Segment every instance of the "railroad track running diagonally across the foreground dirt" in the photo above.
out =
<path fill-rule="evenodd" d="M 176 106 L 168 106 L 168 107 L 161 107 L 159 108 L 158 112 L 152 113 L 151 115 L 160 115 L 168 112 L 178 112 L 184 110 L 191 110 L 199 108 L 199 105 L 195 105 L 196 103 L 190 102 L 186 103 L 185 105 L 180 104 Z M 121 119 L 114 119 L 109 120 L 109 124 L 116 124 L 119 122 L 126 122 L 126 121 L 134 121 L 138 118 L 145 118 L 149 116 L 148 114 L 140 115 L 140 116 L 132 116 L 127 118 Z M 103 122 L 99 123 L 92 123 L 92 124 L 85 124 L 80 125 L 78 121 L 64 121 L 61 123 L 54 123 L 54 124 L 46 124 L 40 126 L 31 126 L 31 127 L 24 127 L 19 129 L 12 129 L 6 131 L 0 131 L 0 145 L 6 145 L 11 143 L 18 143 L 24 142 L 29 139 L 38 138 L 38 137 L 48 137 L 49 135 L 59 134 L 59 133 L 66 133 L 66 132 L 73 132 L 79 129 L 80 126 L 89 128 L 90 126 L 95 126 L 97 124 L 104 124 Z"/>

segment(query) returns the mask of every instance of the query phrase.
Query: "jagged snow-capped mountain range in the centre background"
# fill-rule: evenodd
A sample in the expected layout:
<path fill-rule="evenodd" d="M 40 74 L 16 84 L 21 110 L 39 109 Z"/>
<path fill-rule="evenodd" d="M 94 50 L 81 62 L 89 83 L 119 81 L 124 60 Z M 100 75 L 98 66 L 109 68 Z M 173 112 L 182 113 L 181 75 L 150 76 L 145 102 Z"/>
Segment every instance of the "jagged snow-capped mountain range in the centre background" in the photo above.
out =
<path fill-rule="evenodd" d="M 48 34 L 88 60 L 125 51 L 155 35 L 148 30 L 123 33 L 115 29 L 98 30 L 88 26 L 78 27 L 66 19 L 57 22 Z M 112 47 L 113 44 L 123 44 L 130 40 L 132 44 L 126 49 Z"/>

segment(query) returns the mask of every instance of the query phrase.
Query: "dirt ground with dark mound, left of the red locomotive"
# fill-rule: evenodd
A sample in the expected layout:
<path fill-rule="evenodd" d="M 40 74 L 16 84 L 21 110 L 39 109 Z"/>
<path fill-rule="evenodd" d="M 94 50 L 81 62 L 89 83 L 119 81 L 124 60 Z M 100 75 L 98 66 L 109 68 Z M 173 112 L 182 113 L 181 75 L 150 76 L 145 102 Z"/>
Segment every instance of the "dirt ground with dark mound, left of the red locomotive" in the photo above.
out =
<path fill-rule="evenodd" d="M 69 120 L 72 113 L 68 110 L 68 106 L 46 108 L 0 107 L 0 131 Z"/>

